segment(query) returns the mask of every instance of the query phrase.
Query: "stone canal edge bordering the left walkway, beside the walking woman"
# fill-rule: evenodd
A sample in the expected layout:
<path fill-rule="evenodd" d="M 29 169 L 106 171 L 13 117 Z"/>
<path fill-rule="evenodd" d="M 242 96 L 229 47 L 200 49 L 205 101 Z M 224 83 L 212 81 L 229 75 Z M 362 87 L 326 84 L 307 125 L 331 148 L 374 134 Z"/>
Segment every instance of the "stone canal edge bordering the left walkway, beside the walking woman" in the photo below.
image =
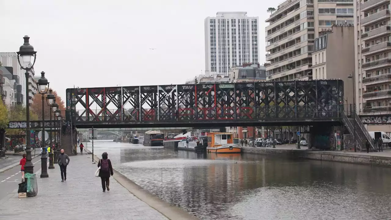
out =
<path fill-rule="evenodd" d="M 88 149 L 85 149 L 88 154 L 91 154 L 91 151 Z M 98 162 L 100 160 L 100 157 L 97 157 L 96 155 L 93 155 L 93 159 Z M 113 169 L 114 175 L 113 178 L 117 180 L 117 182 L 122 185 L 124 188 L 126 188 L 130 193 L 132 193 L 135 197 L 139 198 L 149 206 L 151 206 L 156 211 L 160 212 L 162 215 L 167 217 L 170 220 L 199 220 L 199 218 L 195 217 L 194 215 L 191 215 L 187 211 L 172 206 L 168 202 L 162 200 L 161 198 L 157 197 L 156 195 L 150 193 L 149 191 L 143 189 L 141 186 L 137 185 L 132 180 L 128 179 L 124 175 L 122 175 L 117 170 Z"/>

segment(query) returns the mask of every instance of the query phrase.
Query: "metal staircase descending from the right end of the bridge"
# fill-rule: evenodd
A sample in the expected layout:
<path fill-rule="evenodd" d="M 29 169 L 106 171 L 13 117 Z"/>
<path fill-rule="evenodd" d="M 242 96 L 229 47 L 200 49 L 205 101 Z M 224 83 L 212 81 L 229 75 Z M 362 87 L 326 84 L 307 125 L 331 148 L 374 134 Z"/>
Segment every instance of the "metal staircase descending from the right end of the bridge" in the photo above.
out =
<path fill-rule="evenodd" d="M 375 148 L 375 143 L 369 135 L 368 131 L 365 129 L 360 117 L 355 112 L 352 112 L 350 117 L 348 117 L 344 112 L 342 112 L 341 115 L 342 121 L 348 129 L 350 135 L 354 136 L 356 146 L 359 151 L 366 151 L 366 141 L 368 140 L 371 145 L 369 151 L 376 152 L 377 150 Z"/>

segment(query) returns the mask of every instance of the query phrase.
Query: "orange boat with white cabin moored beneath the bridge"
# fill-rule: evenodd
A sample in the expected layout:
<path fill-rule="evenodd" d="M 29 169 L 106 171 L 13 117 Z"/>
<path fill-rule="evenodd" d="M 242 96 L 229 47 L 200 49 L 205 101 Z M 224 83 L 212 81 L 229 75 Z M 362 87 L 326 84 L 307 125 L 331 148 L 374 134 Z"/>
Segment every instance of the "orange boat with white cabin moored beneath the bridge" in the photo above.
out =
<path fill-rule="evenodd" d="M 208 133 L 209 153 L 241 153 L 242 149 L 239 144 L 233 144 L 232 133 L 211 132 Z"/>

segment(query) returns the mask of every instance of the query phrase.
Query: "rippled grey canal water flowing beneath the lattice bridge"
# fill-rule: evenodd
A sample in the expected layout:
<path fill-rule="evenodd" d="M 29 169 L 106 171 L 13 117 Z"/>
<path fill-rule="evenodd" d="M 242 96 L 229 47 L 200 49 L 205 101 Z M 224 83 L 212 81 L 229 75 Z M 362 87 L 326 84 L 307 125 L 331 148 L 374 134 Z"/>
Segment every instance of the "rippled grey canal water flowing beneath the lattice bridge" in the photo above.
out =
<path fill-rule="evenodd" d="M 105 151 L 127 178 L 204 220 L 391 219 L 390 168 L 94 143 Z"/>

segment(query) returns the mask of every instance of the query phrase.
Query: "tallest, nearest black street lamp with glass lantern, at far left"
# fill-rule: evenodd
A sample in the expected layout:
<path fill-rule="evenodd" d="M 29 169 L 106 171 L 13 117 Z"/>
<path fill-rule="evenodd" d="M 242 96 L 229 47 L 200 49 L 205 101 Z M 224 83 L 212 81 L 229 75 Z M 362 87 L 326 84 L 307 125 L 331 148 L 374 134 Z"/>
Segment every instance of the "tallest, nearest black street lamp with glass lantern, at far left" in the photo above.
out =
<path fill-rule="evenodd" d="M 24 166 L 26 173 L 34 173 L 34 165 L 31 162 L 31 147 L 30 147 L 30 97 L 29 97 L 29 71 L 34 68 L 35 60 L 37 58 L 36 51 L 34 47 L 29 43 L 29 36 L 24 36 L 24 43 L 19 48 L 18 54 L 18 63 L 20 69 L 26 70 L 26 164 Z M 34 56 L 34 62 L 31 64 L 31 58 Z M 22 63 L 20 63 L 20 58 L 22 58 Z"/>

